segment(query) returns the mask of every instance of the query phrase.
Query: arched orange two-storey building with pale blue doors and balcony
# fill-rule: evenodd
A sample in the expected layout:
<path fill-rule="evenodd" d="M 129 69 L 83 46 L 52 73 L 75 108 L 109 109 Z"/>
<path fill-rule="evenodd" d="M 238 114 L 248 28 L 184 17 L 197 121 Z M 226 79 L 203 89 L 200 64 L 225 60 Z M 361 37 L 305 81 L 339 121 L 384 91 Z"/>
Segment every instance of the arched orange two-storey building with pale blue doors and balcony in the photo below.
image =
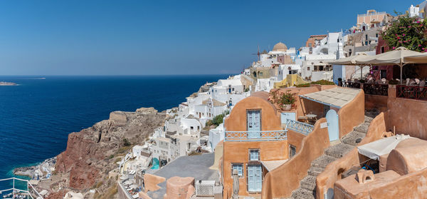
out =
<path fill-rule="evenodd" d="M 286 133 L 280 114 L 267 92 L 256 92 L 238 102 L 226 118 L 222 181 L 224 198 L 233 190 L 232 170 L 238 170 L 239 195 L 259 195 L 268 165 L 288 159 Z"/>

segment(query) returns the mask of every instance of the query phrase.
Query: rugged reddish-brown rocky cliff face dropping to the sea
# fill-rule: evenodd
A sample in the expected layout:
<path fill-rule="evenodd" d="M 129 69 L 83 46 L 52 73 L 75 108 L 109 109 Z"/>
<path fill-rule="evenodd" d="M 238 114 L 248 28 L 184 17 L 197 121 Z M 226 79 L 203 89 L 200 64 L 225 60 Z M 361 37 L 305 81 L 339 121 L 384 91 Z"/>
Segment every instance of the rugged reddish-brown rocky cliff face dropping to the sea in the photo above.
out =
<path fill-rule="evenodd" d="M 154 108 L 115 111 L 110 113 L 108 120 L 70 133 L 66 150 L 57 156 L 56 175 L 60 180 L 51 188 L 85 191 L 105 180 L 108 172 L 117 168 L 117 158 L 130 149 L 129 144 L 142 145 L 149 133 L 164 124 L 165 116 Z M 97 189 L 102 189 L 100 186 Z"/>

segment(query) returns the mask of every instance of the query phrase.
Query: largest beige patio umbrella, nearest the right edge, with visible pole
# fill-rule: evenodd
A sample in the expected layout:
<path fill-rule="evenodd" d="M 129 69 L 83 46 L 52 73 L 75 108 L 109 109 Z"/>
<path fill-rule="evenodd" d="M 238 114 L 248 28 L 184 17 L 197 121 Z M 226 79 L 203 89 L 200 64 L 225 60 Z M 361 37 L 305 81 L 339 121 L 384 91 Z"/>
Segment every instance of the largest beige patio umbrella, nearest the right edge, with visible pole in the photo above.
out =
<path fill-rule="evenodd" d="M 402 82 L 402 71 L 403 67 L 408 63 L 414 63 L 413 61 L 405 60 L 406 57 L 420 56 L 423 53 L 417 51 L 410 51 L 405 47 L 399 47 L 394 51 L 388 51 L 386 53 L 377 54 L 376 56 L 369 56 L 367 58 L 361 58 L 357 60 L 357 63 L 365 63 L 371 65 L 387 66 L 387 65 L 398 65 L 401 69 L 400 80 Z"/>

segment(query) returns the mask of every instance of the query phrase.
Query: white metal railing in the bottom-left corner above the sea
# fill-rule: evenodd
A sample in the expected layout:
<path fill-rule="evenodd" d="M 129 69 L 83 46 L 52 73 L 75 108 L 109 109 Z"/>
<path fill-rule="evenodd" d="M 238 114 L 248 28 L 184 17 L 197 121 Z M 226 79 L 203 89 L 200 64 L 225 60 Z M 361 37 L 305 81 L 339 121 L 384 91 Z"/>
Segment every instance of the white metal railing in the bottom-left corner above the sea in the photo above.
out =
<path fill-rule="evenodd" d="M 11 191 L 11 193 L 9 193 L 9 194 L 13 195 L 11 198 L 16 198 L 15 195 L 19 195 L 19 194 L 25 193 L 28 196 L 27 198 L 34 199 L 33 198 L 33 195 L 34 195 L 36 198 L 43 199 L 43 196 L 41 196 L 40 193 L 38 193 L 38 191 L 36 190 L 36 188 L 34 188 L 33 185 L 31 185 L 31 183 L 28 180 L 23 180 L 23 179 L 20 179 L 20 178 L 6 178 L 6 179 L 0 179 L 0 182 L 7 181 L 7 180 L 11 180 L 11 186 L 12 186 L 12 188 L 5 189 L 5 190 L 0 190 L 0 193 L 1 193 L 0 195 L 3 195 L 3 196 L 4 195 L 8 195 L 6 193 L 8 193 L 9 191 Z M 15 180 L 18 180 L 19 182 L 26 183 L 26 190 L 17 188 Z M 5 197 L 3 197 L 3 198 L 5 198 Z M 6 198 L 7 198 L 7 196 L 6 196 Z"/>

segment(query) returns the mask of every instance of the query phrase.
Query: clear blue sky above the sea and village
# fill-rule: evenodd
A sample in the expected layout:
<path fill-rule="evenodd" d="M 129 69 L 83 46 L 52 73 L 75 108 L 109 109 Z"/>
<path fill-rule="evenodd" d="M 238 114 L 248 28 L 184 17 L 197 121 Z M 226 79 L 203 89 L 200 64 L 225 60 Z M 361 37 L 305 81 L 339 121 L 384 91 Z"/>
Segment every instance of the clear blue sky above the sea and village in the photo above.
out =
<path fill-rule="evenodd" d="M 411 0 L 0 1 L 0 75 L 239 73 L 257 46 L 300 47 Z"/>

